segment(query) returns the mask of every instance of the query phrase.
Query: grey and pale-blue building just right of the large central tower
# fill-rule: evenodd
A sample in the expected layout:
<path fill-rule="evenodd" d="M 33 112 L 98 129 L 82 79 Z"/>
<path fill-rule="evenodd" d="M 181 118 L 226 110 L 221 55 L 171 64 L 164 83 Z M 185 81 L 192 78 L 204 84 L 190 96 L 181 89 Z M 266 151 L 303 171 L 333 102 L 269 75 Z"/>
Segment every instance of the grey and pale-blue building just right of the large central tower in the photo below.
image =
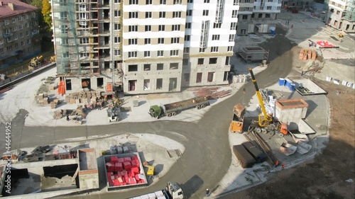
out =
<path fill-rule="evenodd" d="M 271 33 L 281 11 L 282 0 L 234 0 L 239 4 L 238 35 Z"/>

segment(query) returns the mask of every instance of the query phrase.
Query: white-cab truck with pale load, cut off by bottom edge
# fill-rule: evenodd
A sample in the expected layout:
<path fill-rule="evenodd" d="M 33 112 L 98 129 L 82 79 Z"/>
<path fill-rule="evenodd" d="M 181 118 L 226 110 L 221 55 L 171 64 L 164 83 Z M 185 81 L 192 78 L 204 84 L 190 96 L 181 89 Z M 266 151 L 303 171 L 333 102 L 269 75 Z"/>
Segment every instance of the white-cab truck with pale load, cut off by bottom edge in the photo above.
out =
<path fill-rule="evenodd" d="M 145 195 L 139 195 L 130 199 L 143 199 L 143 198 L 154 198 L 154 199 L 184 199 L 184 193 L 180 188 L 178 183 L 170 183 L 166 185 L 161 191 L 155 191 L 154 193 L 148 193 Z"/>

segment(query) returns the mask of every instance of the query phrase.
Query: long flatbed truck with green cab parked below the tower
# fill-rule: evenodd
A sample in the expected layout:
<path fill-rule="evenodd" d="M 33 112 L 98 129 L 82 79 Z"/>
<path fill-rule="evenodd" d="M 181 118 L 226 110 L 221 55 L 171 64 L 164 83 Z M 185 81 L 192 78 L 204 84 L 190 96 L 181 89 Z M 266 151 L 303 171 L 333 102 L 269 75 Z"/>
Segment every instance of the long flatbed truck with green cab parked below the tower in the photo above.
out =
<path fill-rule="evenodd" d="M 168 103 L 165 105 L 154 105 L 149 108 L 149 115 L 151 115 L 153 118 L 161 118 L 163 116 L 174 116 L 178 111 L 185 110 L 188 108 L 195 107 L 197 109 L 204 108 L 209 105 L 208 101 L 208 96 L 205 97 L 196 97 L 196 98 L 190 98 L 188 100 L 184 101 L 178 101 L 174 103 Z"/>

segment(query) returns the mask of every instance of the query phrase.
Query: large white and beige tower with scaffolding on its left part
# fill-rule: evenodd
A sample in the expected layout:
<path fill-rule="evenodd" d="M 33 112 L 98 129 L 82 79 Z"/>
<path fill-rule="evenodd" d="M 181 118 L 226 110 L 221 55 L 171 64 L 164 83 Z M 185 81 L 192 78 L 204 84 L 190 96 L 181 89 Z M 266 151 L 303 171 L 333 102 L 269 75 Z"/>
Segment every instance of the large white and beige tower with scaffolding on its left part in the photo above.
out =
<path fill-rule="evenodd" d="M 233 0 L 52 0 L 67 92 L 113 82 L 126 94 L 228 84 Z"/>

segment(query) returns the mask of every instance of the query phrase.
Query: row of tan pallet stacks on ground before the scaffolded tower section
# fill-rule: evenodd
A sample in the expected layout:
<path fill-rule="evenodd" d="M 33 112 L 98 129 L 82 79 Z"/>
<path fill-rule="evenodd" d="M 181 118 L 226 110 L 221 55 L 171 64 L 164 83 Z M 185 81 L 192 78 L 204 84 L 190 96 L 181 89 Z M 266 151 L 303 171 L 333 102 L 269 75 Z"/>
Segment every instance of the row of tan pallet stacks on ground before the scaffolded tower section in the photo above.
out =
<path fill-rule="evenodd" d="M 76 93 L 70 93 L 65 96 L 66 103 L 97 103 L 101 98 L 99 91 L 82 91 Z"/>

